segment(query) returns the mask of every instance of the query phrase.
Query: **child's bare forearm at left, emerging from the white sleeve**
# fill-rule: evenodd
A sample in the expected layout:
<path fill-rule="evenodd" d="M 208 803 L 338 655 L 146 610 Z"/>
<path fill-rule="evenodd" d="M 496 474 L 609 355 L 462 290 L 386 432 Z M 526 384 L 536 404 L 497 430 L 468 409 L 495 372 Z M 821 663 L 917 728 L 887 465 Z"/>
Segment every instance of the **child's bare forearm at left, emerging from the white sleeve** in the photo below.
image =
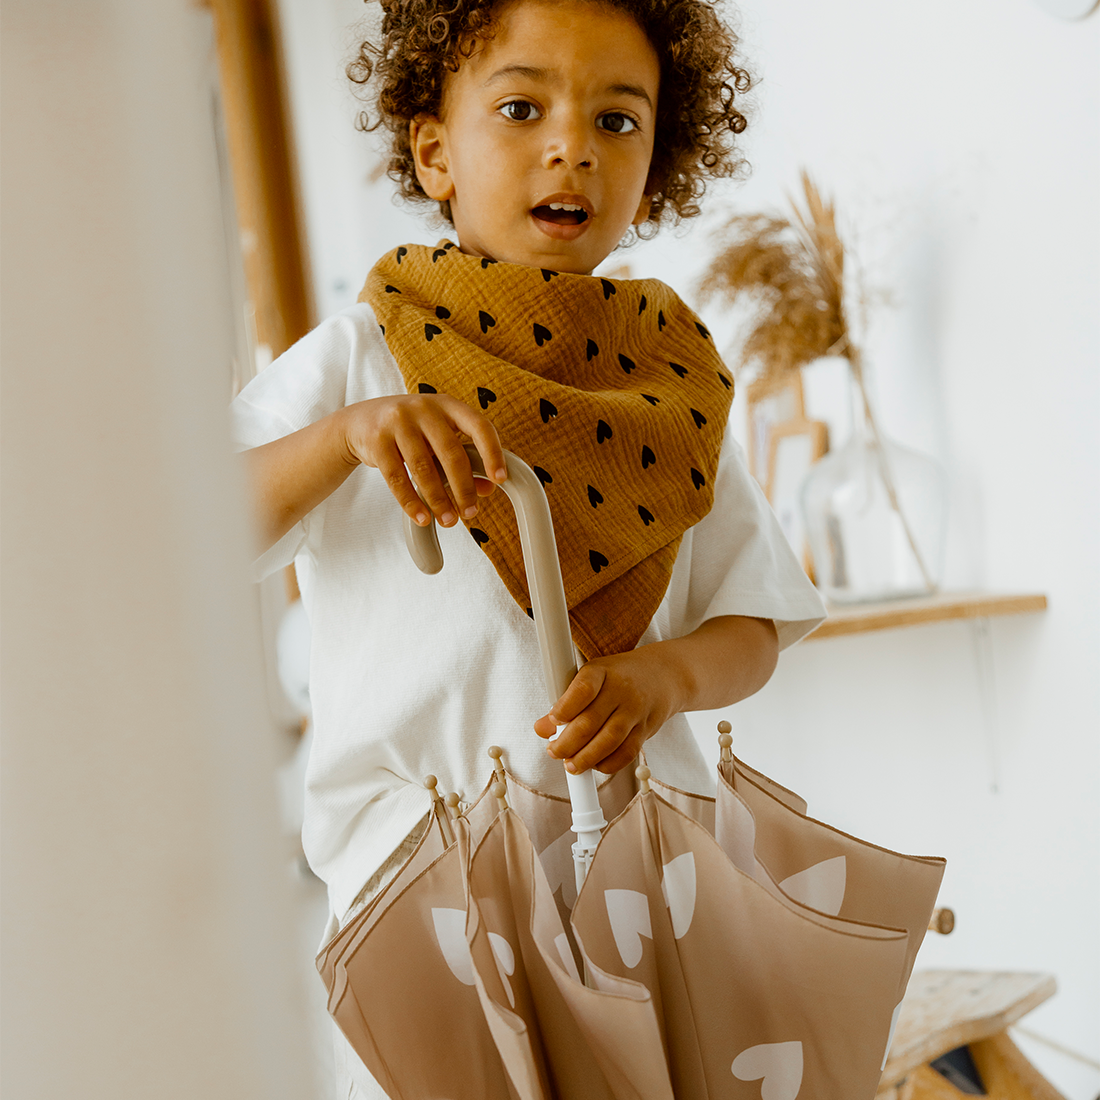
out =
<path fill-rule="evenodd" d="M 336 492 L 359 465 L 346 447 L 342 414 L 245 452 L 261 550 Z"/>

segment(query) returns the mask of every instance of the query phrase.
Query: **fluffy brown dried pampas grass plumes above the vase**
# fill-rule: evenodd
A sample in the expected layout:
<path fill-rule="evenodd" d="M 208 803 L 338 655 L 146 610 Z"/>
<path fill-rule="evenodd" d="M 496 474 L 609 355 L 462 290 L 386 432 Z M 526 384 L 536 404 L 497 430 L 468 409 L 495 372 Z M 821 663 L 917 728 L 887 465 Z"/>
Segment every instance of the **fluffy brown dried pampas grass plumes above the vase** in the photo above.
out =
<path fill-rule="evenodd" d="M 836 211 L 804 170 L 802 190 L 805 209 L 792 202 L 793 218 L 732 218 L 700 282 L 704 300 L 752 308 L 741 364 L 754 375 L 756 394 L 787 385 L 791 371 L 823 355 L 855 355 L 858 372 L 844 305 L 845 254 Z"/>

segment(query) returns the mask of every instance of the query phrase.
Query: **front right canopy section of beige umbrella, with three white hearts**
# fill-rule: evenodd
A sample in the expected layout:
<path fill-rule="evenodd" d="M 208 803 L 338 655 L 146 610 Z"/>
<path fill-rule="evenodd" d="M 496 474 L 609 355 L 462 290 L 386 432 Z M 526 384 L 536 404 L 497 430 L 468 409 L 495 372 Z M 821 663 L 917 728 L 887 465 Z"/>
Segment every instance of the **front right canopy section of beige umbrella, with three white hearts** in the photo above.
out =
<path fill-rule="evenodd" d="M 769 889 L 653 792 L 608 826 L 572 923 L 593 963 L 652 992 L 676 1097 L 875 1094 L 904 930 Z"/>

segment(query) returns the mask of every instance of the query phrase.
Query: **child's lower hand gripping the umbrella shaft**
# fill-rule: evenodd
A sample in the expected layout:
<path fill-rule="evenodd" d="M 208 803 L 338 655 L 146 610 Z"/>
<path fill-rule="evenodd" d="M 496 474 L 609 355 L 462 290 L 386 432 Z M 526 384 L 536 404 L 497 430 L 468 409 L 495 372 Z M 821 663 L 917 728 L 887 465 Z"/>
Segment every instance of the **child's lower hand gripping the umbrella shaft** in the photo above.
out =
<path fill-rule="evenodd" d="M 680 675 L 661 642 L 628 653 L 600 657 L 583 666 L 548 715 L 535 723 L 551 756 L 573 772 L 595 768 L 612 774 L 625 768 L 646 741 L 682 706 Z"/>

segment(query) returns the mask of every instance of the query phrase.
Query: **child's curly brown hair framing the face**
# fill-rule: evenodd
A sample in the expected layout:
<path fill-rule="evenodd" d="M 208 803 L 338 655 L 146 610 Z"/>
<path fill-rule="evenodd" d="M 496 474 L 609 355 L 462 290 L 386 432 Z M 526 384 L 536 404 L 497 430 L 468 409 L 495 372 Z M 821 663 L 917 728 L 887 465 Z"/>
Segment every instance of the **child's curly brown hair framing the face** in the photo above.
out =
<path fill-rule="evenodd" d="M 752 80 L 735 62 L 737 36 L 716 11 L 722 0 L 593 2 L 632 16 L 660 62 L 647 223 L 656 232 L 662 220 L 679 221 L 700 212 L 708 178 L 737 176 L 745 168 L 736 136 L 747 120 L 735 99 L 749 90 Z M 346 70 L 356 85 L 377 85 L 377 118 L 363 111 L 358 127 L 389 131 L 388 175 L 407 199 L 430 202 L 416 177 L 408 124 L 418 116 L 439 117 L 447 74 L 458 72 L 479 42 L 492 37 L 501 0 L 381 0 L 381 43 L 361 43 Z M 450 221 L 450 204 L 439 206 Z"/>

